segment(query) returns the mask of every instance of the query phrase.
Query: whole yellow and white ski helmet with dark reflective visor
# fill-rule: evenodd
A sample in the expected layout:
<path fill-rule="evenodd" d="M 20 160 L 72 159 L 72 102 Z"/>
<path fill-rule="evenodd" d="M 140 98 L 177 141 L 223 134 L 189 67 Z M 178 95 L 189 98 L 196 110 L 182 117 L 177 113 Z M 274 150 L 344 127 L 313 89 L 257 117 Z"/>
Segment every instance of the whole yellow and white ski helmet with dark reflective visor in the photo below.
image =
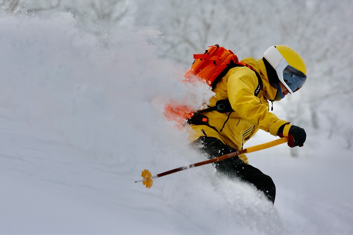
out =
<path fill-rule="evenodd" d="M 289 93 L 298 91 L 306 80 L 306 65 L 301 56 L 284 45 L 271 46 L 264 53 L 265 59 L 276 70 L 277 76 Z"/>

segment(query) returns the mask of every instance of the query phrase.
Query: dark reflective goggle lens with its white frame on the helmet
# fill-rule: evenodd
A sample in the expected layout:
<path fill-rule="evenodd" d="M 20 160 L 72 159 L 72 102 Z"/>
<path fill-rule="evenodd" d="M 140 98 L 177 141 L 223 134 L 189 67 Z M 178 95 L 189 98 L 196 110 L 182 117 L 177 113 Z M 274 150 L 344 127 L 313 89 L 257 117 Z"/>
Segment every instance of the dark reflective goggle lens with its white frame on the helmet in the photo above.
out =
<path fill-rule="evenodd" d="M 283 58 L 279 66 L 276 68 L 278 78 L 283 85 L 288 89 L 289 93 L 298 91 L 306 81 L 306 75 L 298 69 L 290 66 Z"/>

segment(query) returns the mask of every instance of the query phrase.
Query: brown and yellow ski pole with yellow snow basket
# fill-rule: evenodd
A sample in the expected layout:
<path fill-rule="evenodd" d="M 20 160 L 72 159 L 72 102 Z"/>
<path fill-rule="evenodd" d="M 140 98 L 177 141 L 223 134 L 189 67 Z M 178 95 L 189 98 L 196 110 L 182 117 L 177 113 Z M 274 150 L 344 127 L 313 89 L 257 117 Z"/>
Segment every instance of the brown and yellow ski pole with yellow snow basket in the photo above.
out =
<path fill-rule="evenodd" d="M 226 154 L 226 155 L 223 155 L 223 156 L 215 157 L 213 159 L 209 159 L 209 160 L 202 161 L 202 162 L 197 162 L 197 163 L 191 164 L 189 166 L 178 167 L 178 168 L 172 169 L 170 171 L 166 171 L 166 172 L 162 172 L 162 173 L 156 174 L 154 176 L 152 176 L 151 172 L 149 172 L 148 170 L 144 169 L 142 171 L 142 174 L 141 174 L 143 179 L 142 180 L 136 180 L 135 183 L 142 181 L 143 185 L 145 185 L 146 188 L 150 188 L 150 187 L 152 187 L 152 184 L 153 184 L 153 180 L 152 179 L 155 179 L 155 178 L 158 178 L 158 177 L 162 177 L 164 175 L 169 175 L 169 174 L 172 174 L 172 173 L 175 173 L 175 172 L 183 171 L 183 170 L 186 170 L 186 169 L 190 169 L 190 168 L 193 168 L 193 167 L 202 166 L 202 165 L 206 165 L 206 164 L 209 164 L 209 163 L 222 161 L 222 160 L 234 157 L 234 156 L 238 156 L 240 154 L 252 153 L 252 152 L 255 152 L 255 151 L 258 151 L 258 150 L 267 149 L 267 148 L 270 148 L 270 147 L 273 147 L 273 146 L 276 146 L 276 145 L 279 145 L 279 144 L 287 143 L 287 142 L 288 142 L 288 137 L 283 137 L 283 138 L 280 138 L 280 139 L 277 139 L 277 140 L 274 140 L 274 141 L 270 141 L 268 143 L 259 144 L 259 145 L 248 147 L 246 149 L 239 150 L 239 151 L 236 151 L 236 152 L 233 152 L 233 153 L 229 153 L 229 154 Z"/>

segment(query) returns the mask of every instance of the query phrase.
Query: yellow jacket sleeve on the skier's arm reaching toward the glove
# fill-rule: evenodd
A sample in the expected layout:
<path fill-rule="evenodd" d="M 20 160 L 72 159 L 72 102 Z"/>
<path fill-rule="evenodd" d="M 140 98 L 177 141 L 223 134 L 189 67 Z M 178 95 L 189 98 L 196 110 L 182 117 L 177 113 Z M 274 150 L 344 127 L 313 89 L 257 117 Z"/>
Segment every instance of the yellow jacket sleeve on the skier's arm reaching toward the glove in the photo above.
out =
<path fill-rule="evenodd" d="M 228 99 L 232 109 L 241 118 L 274 136 L 277 135 L 281 125 L 289 123 L 269 112 L 268 103 L 263 104 L 254 95 L 258 86 L 258 79 L 252 70 L 246 67 L 238 67 L 236 70 L 230 71 L 227 76 Z"/>

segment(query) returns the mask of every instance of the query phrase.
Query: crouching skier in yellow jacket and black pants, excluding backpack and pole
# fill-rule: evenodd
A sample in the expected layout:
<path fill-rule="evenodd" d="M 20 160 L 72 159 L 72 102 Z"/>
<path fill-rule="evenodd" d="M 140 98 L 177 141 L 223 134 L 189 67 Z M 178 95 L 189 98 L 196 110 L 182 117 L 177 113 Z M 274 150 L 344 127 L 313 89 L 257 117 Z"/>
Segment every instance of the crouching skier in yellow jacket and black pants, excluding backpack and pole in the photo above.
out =
<path fill-rule="evenodd" d="M 216 84 L 213 89 L 216 95 L 209 101 L 210 106 L 216 106 L 217 101 L 229 100 L 231 110 L 203 112 L 207 123 L 197 122 L 198 115 L 189 119 L 192 146 L 210 158 L 219 157 L 243 149 L 244 143 L 259 129 L 274 136 L 289 137 L 289 147 L 303 146 L 304 129 L 269 112 L 269 101 L 279 101 L 303 86 L 306 80 L 303 58 L 285 45 L 276 45 L 267 49 L 262 59 L 247 57 L 243 62 L 253 70 L 246 66 L 231 68 Z M 245 155 L 219 161 L 215 167 L 228 177 L 253 184 L 275 202 L 273 180 L 249 165 Z"/>

